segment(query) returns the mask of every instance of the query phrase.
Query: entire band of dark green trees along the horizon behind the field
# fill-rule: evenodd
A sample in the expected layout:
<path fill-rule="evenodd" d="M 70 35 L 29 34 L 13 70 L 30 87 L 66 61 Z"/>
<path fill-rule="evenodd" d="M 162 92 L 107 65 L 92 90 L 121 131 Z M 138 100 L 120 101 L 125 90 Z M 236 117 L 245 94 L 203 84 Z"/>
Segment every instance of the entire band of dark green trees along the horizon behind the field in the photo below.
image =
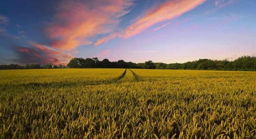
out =
<path fill-rule="evenodd" d="M 0 65 L 0 69 L 42 69 L 42 68 L 130 68 L 130 69 L 191 69 L 191 70 L 229 70 L 229 71 L 256 71 L 256 57 L 242 56 L 234 61 L 199 59 L 186 63 L 153 63 L 151 60 L 145 63 L 132 63 L 118 60 L 110 62 L 108 59 L 100 61 L 96 58 L 72 58 L 67 66 L 51 63 L 40 66 L 39 64 Z"/>

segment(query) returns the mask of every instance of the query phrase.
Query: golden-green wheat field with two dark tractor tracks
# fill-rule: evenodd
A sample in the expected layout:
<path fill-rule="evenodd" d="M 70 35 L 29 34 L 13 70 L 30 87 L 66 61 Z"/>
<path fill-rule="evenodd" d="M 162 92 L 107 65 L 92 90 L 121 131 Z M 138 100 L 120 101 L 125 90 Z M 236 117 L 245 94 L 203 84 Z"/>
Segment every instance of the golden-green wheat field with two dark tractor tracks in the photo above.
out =
<path fill-rule="evenodd" d="M 0 137 L 256 138 L 256 72 L 0 71 Z"/>

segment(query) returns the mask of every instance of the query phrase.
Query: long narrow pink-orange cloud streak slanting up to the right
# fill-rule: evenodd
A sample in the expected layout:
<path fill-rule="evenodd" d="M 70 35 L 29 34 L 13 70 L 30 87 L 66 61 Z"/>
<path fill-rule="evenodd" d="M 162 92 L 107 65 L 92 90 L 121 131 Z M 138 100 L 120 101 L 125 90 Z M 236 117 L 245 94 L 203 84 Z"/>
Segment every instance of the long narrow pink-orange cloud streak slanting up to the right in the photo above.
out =
<path fill-rule="evenodd" d="M 98 46 L 116 37 L 129 38 L 131 36 L 137 35 L 150 28 L 154 24 L 181 16 L 182 14 L 202 4 L 204 1 L 206 0 L 168 0 L 159 6 L 152 6 L 144 16 L 127 27 L 123 32 L 112 33 L 109 36 L 98 39 L 98 41 L 95 43 L 95 46 Z"/>

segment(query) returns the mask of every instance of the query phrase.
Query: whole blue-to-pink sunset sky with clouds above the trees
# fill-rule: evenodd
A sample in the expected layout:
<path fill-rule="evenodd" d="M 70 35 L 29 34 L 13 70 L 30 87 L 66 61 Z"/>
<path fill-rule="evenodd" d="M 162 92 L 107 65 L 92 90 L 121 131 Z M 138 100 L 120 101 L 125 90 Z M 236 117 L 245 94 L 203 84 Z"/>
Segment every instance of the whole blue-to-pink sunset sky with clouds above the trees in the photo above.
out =
<path fill-rule="evenodd" d="M 255 0 L 2 0 L 0 64 L 256 56 Z"/>

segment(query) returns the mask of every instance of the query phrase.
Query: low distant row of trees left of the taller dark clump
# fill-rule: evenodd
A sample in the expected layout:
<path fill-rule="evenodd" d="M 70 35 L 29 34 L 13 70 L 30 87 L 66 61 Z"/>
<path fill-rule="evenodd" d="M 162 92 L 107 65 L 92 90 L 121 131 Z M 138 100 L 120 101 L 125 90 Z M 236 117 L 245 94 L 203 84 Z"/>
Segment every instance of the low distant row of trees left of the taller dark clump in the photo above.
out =
<path fill-rule="evenodd" d="M 23 66 L 20 66 L 18 64 L 10 64 L 10 65 L 0 65 L 0 69 L 58 69 L 58 68 L 66 68 L 66 66 L 59 64 L 59 65 L 54 65 L 52 63 L 47 63 L 44 65 L 40 64 L 26 64 Z"/>

